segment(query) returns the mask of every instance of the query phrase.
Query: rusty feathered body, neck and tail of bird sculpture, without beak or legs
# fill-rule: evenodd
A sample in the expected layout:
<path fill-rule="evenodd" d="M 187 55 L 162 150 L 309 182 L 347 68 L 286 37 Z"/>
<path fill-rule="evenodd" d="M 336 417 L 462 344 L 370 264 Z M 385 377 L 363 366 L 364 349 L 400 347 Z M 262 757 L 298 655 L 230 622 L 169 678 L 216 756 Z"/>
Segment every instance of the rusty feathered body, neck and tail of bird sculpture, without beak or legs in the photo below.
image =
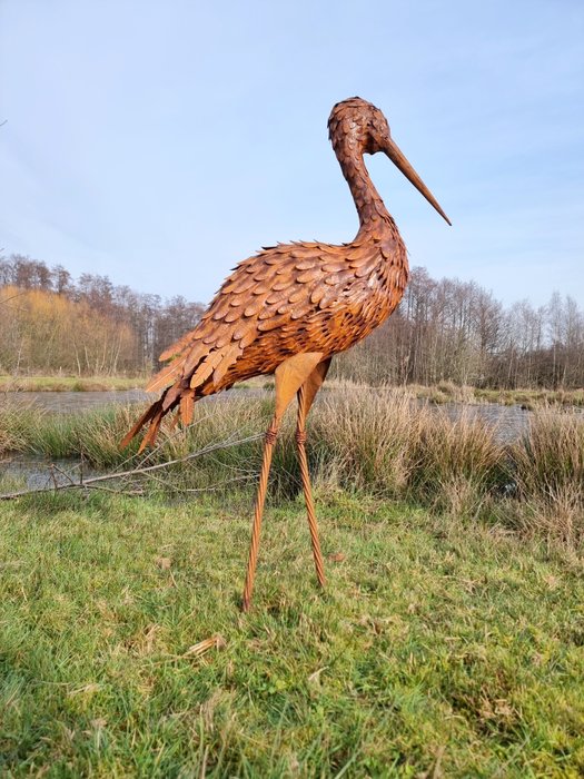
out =
<path fill-rule="evenodd" d="M 143 448 L 156 440 L 166 414 L 177 410 L 189 424 L 198 398 L 238 381 L 271 374 L 295 354 L 319 352 L 329 357 L 347 349 L 397 306 L 407 284 L 407 257 L 363 162 L 366 134 L 359 128 L 369 110 L 377 111 L 370 103 L 352 99 L 338 103 L 329 121 L 333 145 L 360 217 L 355 240 L 278 244 L 241 262 L 195 329 L 161 354 L 168 365 L 147 389 L 162 389 L 162 395 L 123 444 L 148 424 Z"/>

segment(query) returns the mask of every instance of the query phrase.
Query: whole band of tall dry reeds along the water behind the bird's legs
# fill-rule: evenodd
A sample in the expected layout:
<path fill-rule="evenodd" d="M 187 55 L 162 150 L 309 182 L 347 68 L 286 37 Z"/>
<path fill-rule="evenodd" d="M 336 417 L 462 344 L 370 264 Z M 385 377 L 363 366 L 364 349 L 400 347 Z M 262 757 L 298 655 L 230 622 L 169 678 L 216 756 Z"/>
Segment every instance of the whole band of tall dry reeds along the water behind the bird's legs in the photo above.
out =
<path fill-rule="evenodd" d="M 138 441 L 123 451 L 119 442 L 140 406 L 71 415 L 2 406 L 0 453 L 82 456 L 111 471 L 178 460 L 150 484 L 177 492 L 240 489 L 257 480 L 273 411 L 271 393 L 202 401 L 187 430 L 165 420 L 155 448 L 138 457 Z M 326 388 L 308 422 L 313 481 L 321 489 L 409 500 L 458 517 L 488 514 L 584 548 L 584 415 L 557 407 L 534 412 L 522 438 L 503 443 L 472 410 L 449 414 L 403 389 L 342 383 Z M 294 427 L 290 408 L 274 453 L 273 495 L 291 496 L 300 489 Z M 189 457 L 192 453 L 202 454 Z"/>

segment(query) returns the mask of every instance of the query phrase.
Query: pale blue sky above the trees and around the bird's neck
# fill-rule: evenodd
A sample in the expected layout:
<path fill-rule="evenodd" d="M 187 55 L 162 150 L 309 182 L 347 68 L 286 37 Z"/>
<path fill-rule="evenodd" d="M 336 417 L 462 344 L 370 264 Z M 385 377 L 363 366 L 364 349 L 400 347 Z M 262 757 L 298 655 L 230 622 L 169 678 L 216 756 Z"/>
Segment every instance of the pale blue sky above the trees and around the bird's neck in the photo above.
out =
<path fill-rule="evenodd" d="M 367 158 L 413 265 L 584 304 L 584 2 L 0 0 L 0 247 L 206 302 L 350 240 L 328 145 L 359 95 L 451 217 Z"/>

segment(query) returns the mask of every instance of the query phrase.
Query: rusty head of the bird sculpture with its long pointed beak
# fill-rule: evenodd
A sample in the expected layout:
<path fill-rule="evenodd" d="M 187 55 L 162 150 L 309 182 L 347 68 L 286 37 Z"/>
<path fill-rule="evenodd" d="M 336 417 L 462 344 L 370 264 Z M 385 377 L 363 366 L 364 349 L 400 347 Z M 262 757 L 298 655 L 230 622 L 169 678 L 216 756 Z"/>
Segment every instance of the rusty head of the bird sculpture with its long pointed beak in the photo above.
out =
<path fill-rule="evenodd" d="M 384 151 L 438 214 L 446 219 L 448 225 L 452 224 L 434 195 L 392 138 L 387 119 L 372 102 L 359 97 L 337 102 L 328 118 L 328 137 L 337 154 L 340 147 L 346 149 L 347 146 L 349 152 L 355 151 L 362 155 Z"/>

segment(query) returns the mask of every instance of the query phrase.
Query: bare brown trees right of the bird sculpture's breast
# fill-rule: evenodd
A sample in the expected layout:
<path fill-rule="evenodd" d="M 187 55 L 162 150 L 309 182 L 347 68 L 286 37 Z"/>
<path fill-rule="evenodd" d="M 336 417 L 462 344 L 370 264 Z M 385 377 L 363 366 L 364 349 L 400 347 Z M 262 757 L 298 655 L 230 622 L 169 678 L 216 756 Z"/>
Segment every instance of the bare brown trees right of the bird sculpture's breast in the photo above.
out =
<path fill-rule="evenodd" d="M 473 282 L 414 268 L 398 309 L 336 372 L 372 384 L 582 387 L 584 313 L 557 293 L 545 306 L 505 308 Z"/>

